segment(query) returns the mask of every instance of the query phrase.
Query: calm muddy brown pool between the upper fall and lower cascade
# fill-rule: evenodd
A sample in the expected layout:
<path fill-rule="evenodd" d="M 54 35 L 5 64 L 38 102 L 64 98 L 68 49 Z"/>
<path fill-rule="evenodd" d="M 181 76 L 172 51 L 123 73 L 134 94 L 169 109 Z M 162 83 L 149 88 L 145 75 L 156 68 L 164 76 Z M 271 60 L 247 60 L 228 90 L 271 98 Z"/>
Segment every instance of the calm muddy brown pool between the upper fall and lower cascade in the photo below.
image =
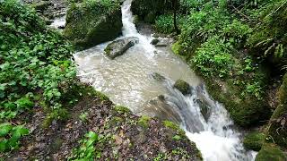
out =
<path fill-rule="evenodd" d="M 161 82 L 153 79 L 154 72 L 171 80 L 187 80 L 194 86 L 200 82 L 169 48 L 146 53 L 143 46 L 136 45 L 125 55 L 110 60 L 103 55 L 103 47 L 94 47 L 74 56 L 79 64 L 78 75 L 116 104 L 129 106 L 135 112 L 141 111 L 146 101 L 167 92 Z"/>

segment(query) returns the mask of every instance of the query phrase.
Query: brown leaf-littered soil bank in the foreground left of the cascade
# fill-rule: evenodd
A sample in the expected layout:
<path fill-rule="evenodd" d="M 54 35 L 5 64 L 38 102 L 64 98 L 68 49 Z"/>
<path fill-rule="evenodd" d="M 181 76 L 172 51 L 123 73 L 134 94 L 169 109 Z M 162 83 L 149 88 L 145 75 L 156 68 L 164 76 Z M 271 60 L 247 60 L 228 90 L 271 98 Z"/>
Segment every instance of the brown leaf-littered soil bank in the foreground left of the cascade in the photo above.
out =
<path fill-rule="evenodd" d="M 86 121 L 79 115 L 87 113 Z M 105 138 L 95 145 L 100 152 L 99 160 L 200 160 L 201 155 L 195 143 L 187 139 L 182 130 L 170 128 L 155 118 L 143 121 L 127 108 L 115 107 L 110 101 L 98 97 L 83 97 L 70 110 L 70 118 L 65 122 L 53 121 L 43 128 L 43 109 L 26 115 L 30 122 L 26 127 L 30 135 L 25 137 L 22 147 L 13 154 L 5 154 L 7 160 L 66 160 L 79 140 L 88 131 L 94 131 Z M 180 136 L 175 140 L 175 136 Z"/>

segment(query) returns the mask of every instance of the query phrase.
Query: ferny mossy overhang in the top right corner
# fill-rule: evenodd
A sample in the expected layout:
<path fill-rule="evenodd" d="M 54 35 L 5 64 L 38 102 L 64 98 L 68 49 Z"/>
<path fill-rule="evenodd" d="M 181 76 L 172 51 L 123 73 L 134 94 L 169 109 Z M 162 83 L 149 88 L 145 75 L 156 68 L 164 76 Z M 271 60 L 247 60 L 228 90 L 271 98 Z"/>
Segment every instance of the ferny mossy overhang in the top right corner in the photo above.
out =
<path fill-rule="evenodd" d="M 262 58 L 274 57 L 277 62 L 286 61 L 287 34 L 284 28 L 287 23 L 286 8 L 286 0 L 276 0 L 265 5 L 255 32 L 248 38 L 248 45 L 254 50 L 255 55 Z"/>

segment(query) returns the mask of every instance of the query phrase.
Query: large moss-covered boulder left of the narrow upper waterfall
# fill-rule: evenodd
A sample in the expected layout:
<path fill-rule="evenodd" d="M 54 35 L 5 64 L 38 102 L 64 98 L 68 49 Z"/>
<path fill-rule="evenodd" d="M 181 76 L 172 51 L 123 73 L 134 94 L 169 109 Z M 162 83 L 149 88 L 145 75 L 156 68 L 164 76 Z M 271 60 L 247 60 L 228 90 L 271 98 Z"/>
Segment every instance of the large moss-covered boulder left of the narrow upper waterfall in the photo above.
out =
<path fill-rule="evenodd" d="M 121 34 L 121 7 L 118 1 L 83 1 L 71 4 L 66 15 L 65 37 L 87 48 L 117 38 Z"/>

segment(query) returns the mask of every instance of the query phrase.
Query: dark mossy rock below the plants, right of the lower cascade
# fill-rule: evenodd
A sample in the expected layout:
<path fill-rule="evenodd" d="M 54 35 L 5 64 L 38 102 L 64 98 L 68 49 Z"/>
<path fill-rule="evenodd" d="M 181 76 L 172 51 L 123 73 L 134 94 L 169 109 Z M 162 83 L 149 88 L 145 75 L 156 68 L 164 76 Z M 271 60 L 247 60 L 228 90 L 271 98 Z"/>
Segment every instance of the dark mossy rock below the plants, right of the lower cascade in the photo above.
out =
<path fill-rule="evenodd" d="M 256 126 L 270 118 L 271 108 L 265 98 L 257 99 L 254 96 L 240 98 L 236 86 L 227 83 L 222 86 L 214 78 L 204 78 L 204 82 L 208 93 L 226 107 L 232 120 L 239 126 Z"/>

